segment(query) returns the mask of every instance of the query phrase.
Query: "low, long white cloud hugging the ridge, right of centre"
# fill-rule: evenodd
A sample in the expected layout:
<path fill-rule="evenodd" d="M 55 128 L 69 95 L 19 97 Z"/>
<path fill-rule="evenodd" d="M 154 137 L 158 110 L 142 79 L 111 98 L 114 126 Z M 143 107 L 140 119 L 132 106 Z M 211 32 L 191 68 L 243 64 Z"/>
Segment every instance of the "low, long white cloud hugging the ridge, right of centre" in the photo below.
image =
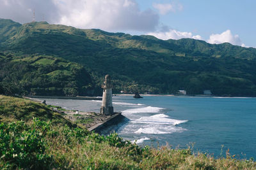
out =
<path fill-rule="evenodd" d="M 180 32 L 175 29 L 169 29 L 169 31 L 165 32 L 148 32 L 147 34 L 164 40 L 181 38 L 202 39 L 200 35 L 193 35 L 191 32 Z"/>

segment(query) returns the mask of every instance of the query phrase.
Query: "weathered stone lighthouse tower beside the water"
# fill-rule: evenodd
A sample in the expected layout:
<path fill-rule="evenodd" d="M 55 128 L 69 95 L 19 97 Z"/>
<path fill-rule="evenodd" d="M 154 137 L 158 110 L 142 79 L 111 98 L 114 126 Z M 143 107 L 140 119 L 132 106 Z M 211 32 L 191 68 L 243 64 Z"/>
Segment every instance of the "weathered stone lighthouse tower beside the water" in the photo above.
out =
<path fill-rule="evenodd" d="M 104 84 L 102 85 L 103 96 L 102 96 L 102 105 L 100 108 L 100 113 L 105 115 L 113 115 L 114 109 L 112 105 L 112 83 L 109 74 L 105 76 Z"/>

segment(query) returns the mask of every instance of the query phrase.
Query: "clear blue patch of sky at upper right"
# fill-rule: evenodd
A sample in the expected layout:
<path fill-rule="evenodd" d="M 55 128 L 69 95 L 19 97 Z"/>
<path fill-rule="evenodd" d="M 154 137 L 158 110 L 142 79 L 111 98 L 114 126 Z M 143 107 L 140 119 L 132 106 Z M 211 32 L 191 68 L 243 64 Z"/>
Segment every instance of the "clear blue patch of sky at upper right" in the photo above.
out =
<path fill-rule="evenodd" d="M 221 34 L 227 30 L 238 35 L 246 46 L 256 46 L 256 1 L 244 0 L 141 0 L 141 10 L 152 8 L 152 4 L 180 4 L 182 10 L 159 13 L 160 22 L 171 29 L 191 32 L 207 40 L 211 34 Z M 177 6 L 177 5 L 176 5 Z M 158 11 L 159 12 L 159 11 Z"/>

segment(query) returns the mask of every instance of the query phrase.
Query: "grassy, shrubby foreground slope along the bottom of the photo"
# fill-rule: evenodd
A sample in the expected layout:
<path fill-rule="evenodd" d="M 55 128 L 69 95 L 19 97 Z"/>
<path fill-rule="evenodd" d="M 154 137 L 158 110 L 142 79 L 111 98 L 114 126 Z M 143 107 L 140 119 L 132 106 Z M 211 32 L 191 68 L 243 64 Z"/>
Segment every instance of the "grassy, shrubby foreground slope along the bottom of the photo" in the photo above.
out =
<path fill-rule="evenodd" d="M 15 100 L 1 96 L 1 115 L 6 113 L 3 108 Z M 26 102 L 25 106 L 35 104 Z M 23 107 L 12 106 L 17 110 Z M 40 107 L 45 108 L 38 104 Z M 203 153 L 195 155 L 189 148 L 140 148 L 116 133 L 100 136 L 65 121 L 56 123 L 56 118 L 44 118 L 0 120 L 0 169 L 256 169 L 253 160 L 236 160 L 228 155 L 214 159 Z"/>

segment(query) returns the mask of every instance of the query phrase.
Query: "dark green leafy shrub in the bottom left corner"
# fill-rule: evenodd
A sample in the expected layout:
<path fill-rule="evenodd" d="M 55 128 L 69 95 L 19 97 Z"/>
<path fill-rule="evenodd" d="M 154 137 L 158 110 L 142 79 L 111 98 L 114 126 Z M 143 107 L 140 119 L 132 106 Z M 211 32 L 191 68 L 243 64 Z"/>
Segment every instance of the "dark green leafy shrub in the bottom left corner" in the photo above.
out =
<path fill-rule="evenodd" d="M 7 162 L 5 167 L 45 169 L 51 163 L 51 156 L 45 154 L 42 132 L 36 130 L 40 123 L 34 120 L 30 128 L 22 121 L 0 124 L 0 153 L 1 161 Z"/>

